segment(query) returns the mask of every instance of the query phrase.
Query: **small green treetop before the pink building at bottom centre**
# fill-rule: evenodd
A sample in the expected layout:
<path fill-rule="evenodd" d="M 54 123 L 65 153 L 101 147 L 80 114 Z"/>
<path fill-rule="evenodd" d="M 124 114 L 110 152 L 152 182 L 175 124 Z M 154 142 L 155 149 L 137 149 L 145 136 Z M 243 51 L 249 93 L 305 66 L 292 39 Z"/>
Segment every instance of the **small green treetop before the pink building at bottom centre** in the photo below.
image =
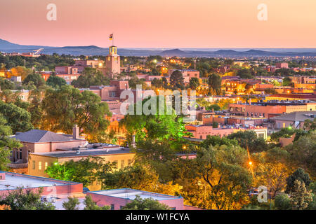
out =
<path fill-rule="evenodd" d="M 157 200 L 150 198 L 141 198 L 136 195 L 136 198 L 127 203 L 122 210 L 169 210 L 166 204 L 159 203 Z"/>

